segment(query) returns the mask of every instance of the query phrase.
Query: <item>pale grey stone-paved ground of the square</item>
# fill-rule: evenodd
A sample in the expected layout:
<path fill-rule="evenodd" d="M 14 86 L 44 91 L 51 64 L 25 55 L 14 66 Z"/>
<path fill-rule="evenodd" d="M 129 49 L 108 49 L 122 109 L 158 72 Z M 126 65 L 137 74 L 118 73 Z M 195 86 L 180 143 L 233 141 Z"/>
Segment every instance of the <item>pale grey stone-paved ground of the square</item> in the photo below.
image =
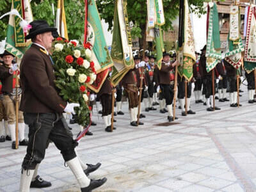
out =
<path fill-rule="evenodd" d="M 196 115 L 183 117 L 177 109 L 178 124 L 170 126 L 156 125 L 167 122 L 159 109 L 143 112 L 145 125 L 129 126 L 127 103 L 125 115 L 115 117 L 117 129 L 112 133 L 105 132 L 102 118 L 94 115 L 93 136 L 83 138 L 77 151 L 86 163 L 102 163 L 90 178 L 108 181 L 95 191 L 256 191 L 256 105 L 247 103 L 243 90 L 241 108 L 216 100 L 221 111 L 207 112 L 192 99 Z M 72 128 L 74 134 L 79 132 L 77 125 Z M 10 145 L 10 141 L 0 144 L 0 191 L 6 192 L 19 189 L 26 152 L 26 147 L 12 150 Z M 33 192 L 80 191 L 52 144 L 38 173 L 52 187 Z"/>

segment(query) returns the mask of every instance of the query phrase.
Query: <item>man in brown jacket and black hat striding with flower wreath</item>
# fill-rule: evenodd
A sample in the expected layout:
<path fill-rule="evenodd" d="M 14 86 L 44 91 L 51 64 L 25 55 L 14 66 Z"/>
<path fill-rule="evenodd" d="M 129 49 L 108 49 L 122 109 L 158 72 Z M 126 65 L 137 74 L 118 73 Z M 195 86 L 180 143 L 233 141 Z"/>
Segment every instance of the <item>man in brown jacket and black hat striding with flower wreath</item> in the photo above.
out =
<path fill-rule="evenodd" d="M 52 47 L 52 31 L 44 20 L 34 20 L 26 39 L 33 42 L 26 51 L 20 64 L 20 83 L 24 94 L 20 102 L 20 110 L 24 112 L 24 121 L 29 125 L 29 142 L 27 154 L 22 163 L 20 191 L 29 191 L 29 186 L 36 164 L 45 156 L 47 141 L 51 140 L 60 150 L 65 163 L 74 173 L 81 191 L 92 191 L 98 188 L 106 178 L 90 180 L 83 172 L 74 148 L 73 140 L 65 128 L 63 112 L 74 113 L 79 104 L 65 102 L 58 95 L 54 84 L 53 62 L 47 49 Z"/>

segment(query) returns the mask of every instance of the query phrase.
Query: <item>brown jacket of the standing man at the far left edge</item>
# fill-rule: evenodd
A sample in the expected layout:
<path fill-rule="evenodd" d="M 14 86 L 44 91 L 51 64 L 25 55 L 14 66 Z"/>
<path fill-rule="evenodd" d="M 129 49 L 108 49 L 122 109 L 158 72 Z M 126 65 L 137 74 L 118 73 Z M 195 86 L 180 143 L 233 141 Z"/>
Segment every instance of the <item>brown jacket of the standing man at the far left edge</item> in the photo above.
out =
<path fill-rule="evenodd" d="M 2 82 L 2 91 L 5 93 L 12 93 L 13 74 L 9 72 L 10 68 L 6 65 L 0 65 L 0 80 Z"/>

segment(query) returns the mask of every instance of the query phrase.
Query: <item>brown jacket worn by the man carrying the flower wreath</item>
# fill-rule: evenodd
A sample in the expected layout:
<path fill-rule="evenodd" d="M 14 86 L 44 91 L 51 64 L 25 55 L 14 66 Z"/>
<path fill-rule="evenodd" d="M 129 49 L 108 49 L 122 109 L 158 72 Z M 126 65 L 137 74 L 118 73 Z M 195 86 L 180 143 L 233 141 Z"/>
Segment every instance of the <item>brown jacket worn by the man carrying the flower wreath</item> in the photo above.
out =
<path fill-rule="evenodd" d="M 23 90 L 20 110 L 26 113 L 63 113 L 67 102 L 58 95 L 54 80 L 49 55 L 38 45 L 32 44 L 20 64 Z"/>

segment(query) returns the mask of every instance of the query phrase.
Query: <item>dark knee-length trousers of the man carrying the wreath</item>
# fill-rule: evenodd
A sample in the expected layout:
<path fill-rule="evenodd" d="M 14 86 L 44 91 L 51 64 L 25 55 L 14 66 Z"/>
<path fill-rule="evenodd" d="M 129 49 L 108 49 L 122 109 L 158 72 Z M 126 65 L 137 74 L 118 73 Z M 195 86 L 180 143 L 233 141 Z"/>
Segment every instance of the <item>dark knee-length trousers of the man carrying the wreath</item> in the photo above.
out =
<path fill-rule="evenodd" d="M 62 115 L 24 113 L 24 121 L 29 126 L 27 154 L 22 163 L 24 170 L 35 170 L 36 164 L 44 159 L 49 140 L 60 150 L 65 161 L 76 157 L 74 148 L 78 143 L 73 140 Z"/>

